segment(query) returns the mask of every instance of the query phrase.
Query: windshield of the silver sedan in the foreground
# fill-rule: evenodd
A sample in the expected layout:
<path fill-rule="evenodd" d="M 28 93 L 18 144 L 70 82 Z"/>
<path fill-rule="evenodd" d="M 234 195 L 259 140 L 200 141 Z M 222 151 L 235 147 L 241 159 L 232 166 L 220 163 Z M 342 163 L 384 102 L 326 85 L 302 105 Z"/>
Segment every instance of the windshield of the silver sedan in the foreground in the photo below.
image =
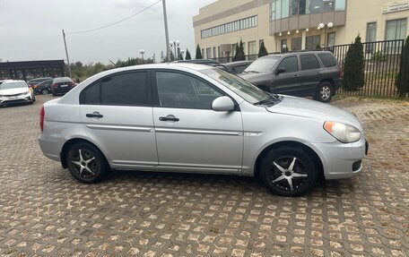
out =
<path fill-rule="evenodd" d="M 271 99 L 271 95 L 263 90 L 260 90 L 250 82 L 231 73 L 222 71 L 221 69 L 206 69 L 200 71 L 212 79 L 221 82 L 229 90 L 238 94 L 242 99 L 245 99 L 251 104 L 263 102 L 266 99 Z"/>

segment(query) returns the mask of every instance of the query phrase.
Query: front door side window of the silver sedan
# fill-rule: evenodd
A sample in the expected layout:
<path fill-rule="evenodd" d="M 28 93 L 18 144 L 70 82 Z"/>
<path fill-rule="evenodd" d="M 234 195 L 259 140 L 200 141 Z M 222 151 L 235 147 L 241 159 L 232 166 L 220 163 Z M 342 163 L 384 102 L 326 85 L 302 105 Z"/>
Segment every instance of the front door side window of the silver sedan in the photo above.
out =
<path fill-rule="evenodd" d="M 211 109 L 213 99 L 222 93 L 195 77 L 157 72 L 156 84 L 161 107 Z"/>

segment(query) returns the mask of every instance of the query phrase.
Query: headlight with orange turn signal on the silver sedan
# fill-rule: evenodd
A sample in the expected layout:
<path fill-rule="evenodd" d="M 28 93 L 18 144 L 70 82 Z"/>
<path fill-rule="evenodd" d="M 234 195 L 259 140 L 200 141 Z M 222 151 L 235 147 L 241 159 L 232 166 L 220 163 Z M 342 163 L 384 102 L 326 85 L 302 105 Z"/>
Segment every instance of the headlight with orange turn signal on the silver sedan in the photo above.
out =
<path fill-rule="evenodd" d="M 324 129 L 338 141 L 344 143 L 359 141 L 361 139 L 360 130 L 350 124 L 327 121 L 324 123 Z"/>

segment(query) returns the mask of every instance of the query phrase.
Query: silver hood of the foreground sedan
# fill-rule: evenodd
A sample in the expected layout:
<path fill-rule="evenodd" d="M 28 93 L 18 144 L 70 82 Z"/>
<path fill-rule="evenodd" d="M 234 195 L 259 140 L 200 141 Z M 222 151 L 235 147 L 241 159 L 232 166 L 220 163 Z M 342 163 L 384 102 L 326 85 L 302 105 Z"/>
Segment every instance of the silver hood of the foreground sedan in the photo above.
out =
<path fill-rule="evenodd" d="M 271 113 L 279 113 L 290 116 L 302 116 L 325 121 L 342 122 L 351 124 L 362 131 L 361 123 L 355 116 L 341 108 L 331 106 L 310 99 L 283 96 L 283 100 L 273 107 L 265 107 Z"/>

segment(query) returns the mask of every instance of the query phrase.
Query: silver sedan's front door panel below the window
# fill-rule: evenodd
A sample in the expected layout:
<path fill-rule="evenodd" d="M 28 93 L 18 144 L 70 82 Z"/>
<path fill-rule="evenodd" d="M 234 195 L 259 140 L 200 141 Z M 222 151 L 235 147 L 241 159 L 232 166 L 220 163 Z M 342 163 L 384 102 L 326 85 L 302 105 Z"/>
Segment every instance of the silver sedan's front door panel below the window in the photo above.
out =
<path fill-rule="evenodd" d="M 178 121 L 160 120 L 170 115 Z M 239 173 L 243 150 L 240 112 L 154 107 L 153 121 L 161 166 L 232 168 Z"/>

